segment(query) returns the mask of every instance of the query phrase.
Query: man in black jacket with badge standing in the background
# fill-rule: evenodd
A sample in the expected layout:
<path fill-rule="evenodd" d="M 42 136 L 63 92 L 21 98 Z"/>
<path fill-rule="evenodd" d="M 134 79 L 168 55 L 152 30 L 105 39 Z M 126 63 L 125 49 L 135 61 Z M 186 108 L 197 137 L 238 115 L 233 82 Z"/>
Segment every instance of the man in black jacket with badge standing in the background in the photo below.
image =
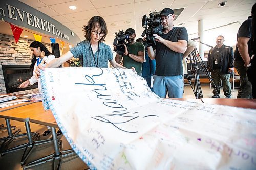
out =
<path fill-rule="evenodd" d="M 211 78 L 220 94 L 220 80 L 222 80 L 223 92 L 226 98 L 231 98 L 230 73 L 234 71 L 234 52 L 231 46 L 223 45 L 224 37 L 216 38 L 216 46 L 208 53 L 207 69 L 211 72 Z M 212 98 L 219 98 L 215 90 Z"/>

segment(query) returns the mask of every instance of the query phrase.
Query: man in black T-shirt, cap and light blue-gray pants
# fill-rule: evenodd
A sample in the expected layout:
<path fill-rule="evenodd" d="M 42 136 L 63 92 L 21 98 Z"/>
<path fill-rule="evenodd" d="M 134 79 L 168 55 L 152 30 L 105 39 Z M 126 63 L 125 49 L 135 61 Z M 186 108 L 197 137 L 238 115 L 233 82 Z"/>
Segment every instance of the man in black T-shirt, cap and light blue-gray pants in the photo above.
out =
<path fill-rule="evenodd" d="M 183 71 L 182 59 L 186 50 L 188 35 L 184 27 L 174 27 L 174 11 L 164 8 L 161 13 L 163 34 L 153 34 L 156 40 L 156 49 L 148 47 L 148 55 L 152 60 L 156 59 L 156 72 L 153 76 L 153 91 L 169 98 L 182 98 L 183 95 Z"/>

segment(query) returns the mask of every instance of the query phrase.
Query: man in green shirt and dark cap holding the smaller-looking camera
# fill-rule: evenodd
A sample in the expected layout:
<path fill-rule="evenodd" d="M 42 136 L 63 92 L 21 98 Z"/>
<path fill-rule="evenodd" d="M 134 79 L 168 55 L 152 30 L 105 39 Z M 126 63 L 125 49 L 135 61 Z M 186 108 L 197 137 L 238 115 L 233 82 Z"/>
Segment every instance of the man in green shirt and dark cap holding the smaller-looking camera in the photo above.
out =
<path fill-rule="evenodd" d="M 123 66 L 126 68 L 134 67 L 137 74 L 142 76 L 142 63 L 144 62 L 145 47 L 142 43 L 135 42 L 135 30 L 129 28 L 125 31 L 125 35 L 129 35 L 127 45 L 125 46 L 125 53 L 116 54 L 115 60 L 120 63 L 123 58 Z"/>

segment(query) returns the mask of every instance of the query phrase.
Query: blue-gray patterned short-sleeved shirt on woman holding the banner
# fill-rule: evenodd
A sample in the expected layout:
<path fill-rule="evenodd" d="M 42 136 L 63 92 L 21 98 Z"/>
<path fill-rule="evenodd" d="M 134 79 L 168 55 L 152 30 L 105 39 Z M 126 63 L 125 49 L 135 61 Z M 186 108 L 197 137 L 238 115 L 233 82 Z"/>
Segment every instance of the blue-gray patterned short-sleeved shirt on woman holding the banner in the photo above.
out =
<path fill-rule="evenodd" d="M 113 60 L 113 53 L 110 46 L 99 43 L 99 49 L 93 54 L 90 42 L 88 40 L 77 43 L 70 49 L 75 58 L 79 58 L 82 67 L 100 67 L 107 68 L 108 60 Z"/>

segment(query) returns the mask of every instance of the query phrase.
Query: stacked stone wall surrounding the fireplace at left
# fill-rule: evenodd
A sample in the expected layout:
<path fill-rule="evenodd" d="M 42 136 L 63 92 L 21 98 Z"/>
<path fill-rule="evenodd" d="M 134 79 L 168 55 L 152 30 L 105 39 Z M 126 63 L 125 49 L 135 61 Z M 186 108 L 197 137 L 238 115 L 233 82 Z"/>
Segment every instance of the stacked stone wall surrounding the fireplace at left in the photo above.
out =
<path fill-rule="evenodd" d="M 32 52 L 29 48 L 34 40 L 19 38 L 18 43 L 11 35 L 0 34 L 0 94 L 6 93 L 2 65 L 30 65 Z M 43 43 L 51 52 L 51 45 Z M 30 94 L 38 89 L 15 92 L 15 94 Z"/>

